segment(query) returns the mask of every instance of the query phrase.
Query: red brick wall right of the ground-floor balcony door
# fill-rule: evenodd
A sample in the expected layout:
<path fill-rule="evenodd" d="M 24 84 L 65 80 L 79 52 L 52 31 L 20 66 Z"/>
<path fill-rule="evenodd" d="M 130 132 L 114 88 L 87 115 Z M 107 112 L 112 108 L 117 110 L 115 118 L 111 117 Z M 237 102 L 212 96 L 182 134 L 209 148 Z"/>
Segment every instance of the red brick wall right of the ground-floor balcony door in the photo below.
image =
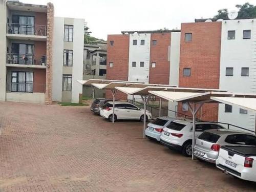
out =
<path fill-rule="evenodd" d="M 46 70 L 34 69 L 33 92 L 45 93 L 46 89 Z"/>

